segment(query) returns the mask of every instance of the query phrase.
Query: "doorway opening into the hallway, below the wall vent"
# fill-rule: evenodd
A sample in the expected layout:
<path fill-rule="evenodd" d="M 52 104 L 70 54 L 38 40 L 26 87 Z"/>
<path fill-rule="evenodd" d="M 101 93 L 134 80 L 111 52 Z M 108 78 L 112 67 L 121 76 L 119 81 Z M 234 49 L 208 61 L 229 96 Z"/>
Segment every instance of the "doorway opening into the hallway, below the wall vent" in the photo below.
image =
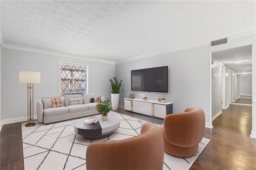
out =
<path fill-rule="evenodd" d="M 212 52 L 212 71 L 212 121 L 230 105 L 252 106 L 252 45 Z"/>

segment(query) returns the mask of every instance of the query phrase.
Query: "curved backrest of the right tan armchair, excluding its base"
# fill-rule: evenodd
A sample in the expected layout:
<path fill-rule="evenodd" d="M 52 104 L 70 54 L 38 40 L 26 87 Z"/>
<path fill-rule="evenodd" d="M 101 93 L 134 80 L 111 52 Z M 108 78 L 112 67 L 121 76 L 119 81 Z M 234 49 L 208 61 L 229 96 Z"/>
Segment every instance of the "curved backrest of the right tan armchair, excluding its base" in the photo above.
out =
<path fill-rule="evenodd" d="M 204 111 L 198 107 L 190 107 L 184 113 L 175 113 L 164 118 L 164 137 L 176 146 L 192 147 L 202 140 L 204 127 Z"/>

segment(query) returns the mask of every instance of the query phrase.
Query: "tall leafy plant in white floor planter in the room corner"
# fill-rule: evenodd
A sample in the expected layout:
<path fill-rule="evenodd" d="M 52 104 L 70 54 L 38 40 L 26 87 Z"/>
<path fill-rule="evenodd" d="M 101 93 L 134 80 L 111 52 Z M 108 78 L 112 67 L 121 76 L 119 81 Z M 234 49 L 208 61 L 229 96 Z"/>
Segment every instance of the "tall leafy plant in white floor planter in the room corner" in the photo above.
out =
<path fill-rule="evenodd" d="M 111 83 L 111 105 L 112 105 L 112 110 L 117 110 L 118 105 L 119 105 L 119 93 L 120 93 L 120 87 L 122 85 L 122 81 L 119 81 L 116 79 L 116 77 L 113 77 L 114 80 L 109 79 Z"/>

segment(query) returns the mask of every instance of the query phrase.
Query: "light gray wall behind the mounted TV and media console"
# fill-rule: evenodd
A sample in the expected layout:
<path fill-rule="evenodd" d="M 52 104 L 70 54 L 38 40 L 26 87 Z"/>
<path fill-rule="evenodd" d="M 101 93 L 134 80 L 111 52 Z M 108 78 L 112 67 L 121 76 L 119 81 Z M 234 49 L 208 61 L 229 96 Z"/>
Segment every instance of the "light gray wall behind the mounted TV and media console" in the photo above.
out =
<path fill-rule="evenodd" d="M 165 97 L 173 103 L 173 113 L 183 112 L 187 107 L 201 107 L 210 123 L 210 51 L 208 45 L 175 51 L 116 64 L 116 77 L 123 79 L 120 91 L 120 107 L 123 98 L 132 92 L 141 98 L 140 91 L 131 91 L 131 70 L 168 65 L 168 93 L 143 92 L 149 100 Z"/>

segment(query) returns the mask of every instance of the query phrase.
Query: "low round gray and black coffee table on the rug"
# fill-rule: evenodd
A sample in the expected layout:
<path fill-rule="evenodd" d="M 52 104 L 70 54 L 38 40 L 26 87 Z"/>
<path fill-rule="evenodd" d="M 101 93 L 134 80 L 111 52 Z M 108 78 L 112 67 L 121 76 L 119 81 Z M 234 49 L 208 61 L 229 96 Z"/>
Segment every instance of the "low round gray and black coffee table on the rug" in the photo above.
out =
<path fill-rule="evenodd" d="M 84 125 L 86 119 L 98 119 L 96 124 Z M 108 116 L 108 120 L 102 121 L 100 116 L 93 116 L 81 119 L 75 124 L 76 134 L 83 135 L 85 139 L 96 140 L 110 136 L 120 127 L 120 119 L 114 116 Z"/>

